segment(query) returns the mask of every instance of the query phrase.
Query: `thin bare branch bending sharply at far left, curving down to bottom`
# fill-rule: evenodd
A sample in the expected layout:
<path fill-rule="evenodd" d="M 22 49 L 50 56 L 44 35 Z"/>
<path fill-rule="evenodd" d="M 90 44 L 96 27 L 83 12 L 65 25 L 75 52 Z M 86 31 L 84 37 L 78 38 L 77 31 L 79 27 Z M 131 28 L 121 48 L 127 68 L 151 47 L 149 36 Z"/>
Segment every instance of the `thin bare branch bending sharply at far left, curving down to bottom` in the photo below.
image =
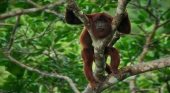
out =
<path fill-rule="evenodd" d="M 59 3 L 55 3 L 55 4 L 52 4 L 52 5 L 55 6 L 55 5 L 58 5 L 58 4 L 59 4 Z M 49 6 L 47 6 L 47 8 L 48 8 L 48 7 L 51 7 L 51 6 L 49 5 Z M 38 69 L 31 68 L 31 67 L 29 67 L 29 66 L 26 66 L 26 65 L 22 64 L 21 62 L 19 62 L 18 60 L 14 59 L 14 58 L 10 55 L 11 48 L 12 48 L 13 43 L 14 43 L 14 36 L 15 36 L 15 33 L 16 33 L 16 29 L 17 29 L 17 26 L 18 26 L 18 24 L 19 24 L 19 22 L 20 22 L 20 13 L 19 13 L 19 12 L 17 12 L 17 13 L 18 13 L 18 18 L 17 18 L 17 21 L 16 21 L 16 23 L 15 23 L 15 25 L 14 25 L 14 28 L 13 28 L 13 30 L 12 30 L 12 34 L 11 34 L 11 38 L 10 38 L 10 43 L 9 43 L 9 45 L 8 45 L 8 47 L 7 47 L 6 52 L 4 53 L 5 56 L 6 56 L 11 62 L 15 63 L 16 65 L 18 65 L 18 66 L 20 66 L 20 67 L 22 67 L 22 68 L 24 68 L 24 69 L 29 70 L 29 71 L 36 72 L 36 73 L 41 74 L 41 75 L 43 75 L 43 76 L 65 79 L 65 80 L 70 84 L 71 88 L 74 90 L 75 93 L 80 93 L 80 92 L 77 90 L 77 88 L 76 88 L 75 84 L 73 83 L 73 81 L 72 81 L 69 77 L 67 77 L 67 76 L 62 76 L 62 75 L 58 75 L 58 74 L 56 74 L 56 73 L 42 72 L 42 71 L 40 71 L 40 70 L 38 70 Z M 17 14 L 17 13 L 16 13 L 16 14 Z M 29 12 L 27 12 L 27 13 L 29 13 Z M 9 16 L 9 15 L 8 15 L 8 16 Z M 0 16 L 0 17 L 2 17 L 2 16 Z M 52 23 L 51 23 L 51 24 L 52 24 Z M 50 26 L 51 24 L 49 24 L 49 26 Z M 49 27 L 49 26 L 48 26 L 48 27 Z M 47 29 L 48 29 L 48 28 L 47 28 Z"/>

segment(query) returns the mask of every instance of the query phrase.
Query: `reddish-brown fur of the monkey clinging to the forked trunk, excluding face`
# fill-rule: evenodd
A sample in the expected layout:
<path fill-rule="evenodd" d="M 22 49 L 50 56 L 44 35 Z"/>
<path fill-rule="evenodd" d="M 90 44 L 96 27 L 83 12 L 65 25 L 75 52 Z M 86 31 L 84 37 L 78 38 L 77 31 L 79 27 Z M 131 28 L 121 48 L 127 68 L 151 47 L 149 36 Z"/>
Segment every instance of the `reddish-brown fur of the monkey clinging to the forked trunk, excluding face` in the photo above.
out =
<path fill-rule="evenodd" d="M 90 14 L 86 16 L 88 17 L 90 21 L 92 34 L 96 38 L 102 39 L 111 33 L 111 22 L 113 20 L 112 16 L 106 13 L 96 13 L 96 14 Z M 106 21 L 104 23 L 103 31 L 96 30 L 97 28 L 95 24 L 96 21 Z M 66 22 L 68 24 L 82 24 L 82 22 L 69 9 L 66 9 Z M 129 34 L 131 28 L 130 28 L 130 21 L 129 21 L 127 13 L 125 17 L 123 18 L 122 22 L 120 23 L 120 26 L 118 27 L 118 31 L 125 33 L 125 34 Z M 82 45 L 81 55 L 84 61 L 84 74 L 87 80 L 89 81 L 91 88 L 95 88 L 95 82 L 98 82 L 98 80 L 96 80 L 93 77 L 93 71 L 92 71 L 92 63 L 94 61 L 94 47 L 92 46 L 92 39 L 86 28 L 83 29 L 80 35 L 80 43 Z M 106 46 L 105 55 L 106 56 L 110 55 L 111 57 L 110 66 L 106 64 L 106 69 L 105 69 L 106 72 L 108 74 L 118 73 L 121 78 L 122 74 L 118 70 L 118 66 L 120 63 L 120 56 L 119 56 L 118 50 L 116 48 Z"/>

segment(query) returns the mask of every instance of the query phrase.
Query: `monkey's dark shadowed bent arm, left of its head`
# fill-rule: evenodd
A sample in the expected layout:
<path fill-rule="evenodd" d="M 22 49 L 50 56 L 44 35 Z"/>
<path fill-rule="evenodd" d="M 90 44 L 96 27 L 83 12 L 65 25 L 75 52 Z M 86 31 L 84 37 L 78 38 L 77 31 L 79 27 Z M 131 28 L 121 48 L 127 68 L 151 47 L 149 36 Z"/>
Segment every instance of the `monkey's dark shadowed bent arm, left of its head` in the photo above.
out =
<path fill-rule="evenodd" d="M 65 20 L 68 24 L 80 25 L 82 22 L 80 19 L 73 13 L 72 10 L 66 8 Z"/>

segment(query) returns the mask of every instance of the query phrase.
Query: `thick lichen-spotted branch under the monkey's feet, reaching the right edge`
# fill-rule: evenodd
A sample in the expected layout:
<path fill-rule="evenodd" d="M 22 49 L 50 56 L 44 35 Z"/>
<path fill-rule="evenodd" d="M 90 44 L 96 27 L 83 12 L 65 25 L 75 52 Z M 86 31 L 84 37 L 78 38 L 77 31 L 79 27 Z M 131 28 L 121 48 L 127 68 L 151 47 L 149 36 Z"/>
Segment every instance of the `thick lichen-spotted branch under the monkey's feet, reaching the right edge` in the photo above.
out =
<path fill-rule="evenodd" d="M 106 88 L 117 84 L 118 82 L 137 74 L 141 74 L 144 72 L 157 70 L 165 67 L 170 67 L 170 57 L 168 58 L 161 58 L 158 60 L 150 61 L 150 62 L 143 62 L 133 66 L 126 66 L 121 68 L 121 72 L 123 74 L 123 78 L 120 80 L 118 75 L 110 74 L 105 77 L 105 81 L 102 83 L 96 84 L 98 90 L 94 92 L 89 86 L 83 91 L 83 93 L 101 93 L 101 91 L 105 90 Z"/>

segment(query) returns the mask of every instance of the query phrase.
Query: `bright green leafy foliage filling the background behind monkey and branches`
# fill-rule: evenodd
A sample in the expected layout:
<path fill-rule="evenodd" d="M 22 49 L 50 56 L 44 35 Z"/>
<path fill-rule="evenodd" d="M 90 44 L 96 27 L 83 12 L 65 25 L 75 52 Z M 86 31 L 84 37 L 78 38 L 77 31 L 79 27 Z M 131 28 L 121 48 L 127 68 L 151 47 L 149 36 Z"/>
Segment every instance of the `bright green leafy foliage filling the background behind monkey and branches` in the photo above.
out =
<path fill-rule="evenodd" d="M 59 0 L 34 0 L 40 6 L 57 1 Z M 137 0 L 134 2 L 146 6 L 147 1 Z M 76 2 L 88 14 L 107 12 L 114 15 L 117 6 L 116 0 L 77 0 Z M 164 2 L 162 0 L 152 0 L 149 10 L 154 15 L 160 16 L 169 7 L 168 2 L 168 0 Z M 34 8 L 26 0 L 1 0 L 0 6 L 3 6 L 0 7 L 0 14 L 19 9 Z M 50 10 L 64 14 L 65 5 Z M 146 34 L 151 33 L 155 24 L 155 19 L 141 8 L 136 9 L 134 5 L 130 4 L 127 11 L 129 12 L 134 35 L 123 35 L 114 45 L 121 54 L 120 67 L 138 62 L 146 42 Z M 167 12 L 160 18 L 160 22 L 163 23 L 168 20 L 169 16 L 170 12 Z M 4 52 L 9 46 L 16 17 L 3 19 L 1 22 L 9 25 L 0 26 L 0 92 L 73 93 L 65 80 L 44 77 L 30 72 L 7 59 Z M 143 27 L 146 32 L 141 31 L 137 26 Z M 78 41 L 82 29 L 82 26 L 68 25 L 63 17 L 45 11 L 22 15 L 16 30 L 11 55 L 27 66 L 70 77 L 76 87 L 82 91 L 87 85 L 83 75 Z M 144 61 L 170 56 L 169 29 L 170 24 L 165 24 L 156 31 Z M 155 89 L 159 87 L 163 87 L 163 91 L 167 92 L 168 89 L 164 86 L 170 80 L 169 72 L 169 68 L 164 68 L 150 72 L 152 76 L 147 74 L 138 75 L 135 78 L 136 86 L 139 90 L 148 89 L 145 91 L 147 93 L 155 93 Z M 112 87 L 108 88 L 105 93 L 113 93 L 111 91 L 129 93 L 129 83 L 120 82 L 113 89 Z"/>

